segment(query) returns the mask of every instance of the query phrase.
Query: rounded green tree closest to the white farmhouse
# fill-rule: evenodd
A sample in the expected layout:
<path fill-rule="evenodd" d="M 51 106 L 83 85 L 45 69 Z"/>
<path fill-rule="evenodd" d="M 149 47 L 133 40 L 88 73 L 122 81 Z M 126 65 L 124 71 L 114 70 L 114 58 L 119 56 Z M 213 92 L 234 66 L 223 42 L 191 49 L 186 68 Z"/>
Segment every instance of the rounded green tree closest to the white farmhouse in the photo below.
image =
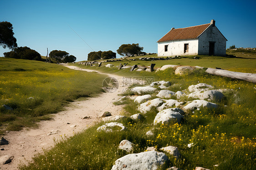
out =
<path fill-rule="evenodd" d="M 143 47 L 140 47 L 138 44 L 123 44 L 118 48 L 117 52 L 119 55 L 131 56 L 138 55 L 141 50 L 143 50 Z"/>

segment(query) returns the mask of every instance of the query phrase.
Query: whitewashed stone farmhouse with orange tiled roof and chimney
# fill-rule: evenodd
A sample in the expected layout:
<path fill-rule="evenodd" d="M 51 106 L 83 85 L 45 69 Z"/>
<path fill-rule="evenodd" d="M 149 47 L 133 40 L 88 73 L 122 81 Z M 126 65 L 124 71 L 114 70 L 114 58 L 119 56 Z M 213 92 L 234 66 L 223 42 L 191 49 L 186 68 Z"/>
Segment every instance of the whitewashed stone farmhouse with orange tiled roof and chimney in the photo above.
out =
<path fill-rule="evenodd" d="M 227 39 L 215 26 L 209 24 L 172 28 L 158 43 L 158 56 L 173 55 L 226 55 Z"/>

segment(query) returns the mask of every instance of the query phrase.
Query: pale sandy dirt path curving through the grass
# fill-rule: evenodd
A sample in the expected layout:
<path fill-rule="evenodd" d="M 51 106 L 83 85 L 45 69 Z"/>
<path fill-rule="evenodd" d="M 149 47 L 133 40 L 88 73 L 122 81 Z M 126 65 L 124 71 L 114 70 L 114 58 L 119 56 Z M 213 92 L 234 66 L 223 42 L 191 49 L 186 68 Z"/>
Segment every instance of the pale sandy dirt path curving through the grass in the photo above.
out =
<path fill-rule="evenodd" d="M 76 70 L 84 70 L 92 72 L 95 70 L 81 69 L 76 66 L 68 66 L 68 68 Z M 97 71 L 96 71 L 97 72 Z M 103 73 L 102 73 L 103 74 Z M 121 76 L 106 74 L 118 79 L 119 88 L 113 93 L 102 93 L 98 97 L 88 98 L 84 101 L 76 101 L 67 107 L 67 110 L 54 114 L 53 120 L 41 121 L 37 129 L 24 129 L 18 132 L 10 131 L 4 137 L 9 141 L 9 145 L 1 145 L 0 157 L 3 155 L 14 156 L 10 164 L 0 164 L 1 170 L 16 170 L 20 163 L 32 161 L 32 157 L 37 153 L 42 153 L 43 149 L 54 146 L 54 139 L 59 140 L 61 136 L 72 136 L 93 125 L 95 121 L 101 120 L 98 118 L 104 111 L 109 111 L 112 115 L 118 115 L 121 112 L 122 106 L 113 105 L 113 101 L 121 98 L 118 94 L 122 93 L 125 88 L 121 85 L 123 81 Z M 83 119 L 85 116 L 91 119 Z M 75 127 L 74 127 L 75 126 Z M 56 131 L 55 134 L 47 135 L 51 131 Z M 26 161 L 27 160 L 27 161 Z"/>

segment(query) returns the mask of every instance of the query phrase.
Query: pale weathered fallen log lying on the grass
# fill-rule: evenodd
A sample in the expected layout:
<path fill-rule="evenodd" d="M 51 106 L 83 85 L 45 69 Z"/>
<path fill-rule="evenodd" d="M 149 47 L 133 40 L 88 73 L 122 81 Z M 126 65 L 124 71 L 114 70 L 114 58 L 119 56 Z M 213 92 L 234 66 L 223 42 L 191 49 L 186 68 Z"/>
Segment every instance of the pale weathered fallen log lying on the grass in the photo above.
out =
<path fill-rule="evenodd" d="M 211 75 L 220 75 L 224 77 L 229 77 L 231 79 L 246 80 L 246 81 L 256 83 L 256 74 L 252 74 L 252 73 L 240 73 L 240 72 L 212 69 L 212 68 L 208 68 L 205 72 Z"/>

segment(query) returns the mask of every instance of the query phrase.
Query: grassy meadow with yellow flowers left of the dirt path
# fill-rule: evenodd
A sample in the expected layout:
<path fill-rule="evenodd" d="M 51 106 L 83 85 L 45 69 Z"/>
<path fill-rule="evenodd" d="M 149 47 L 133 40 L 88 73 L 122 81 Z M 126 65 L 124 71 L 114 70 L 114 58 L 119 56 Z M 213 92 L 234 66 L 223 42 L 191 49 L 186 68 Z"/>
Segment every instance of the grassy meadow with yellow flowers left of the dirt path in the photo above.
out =
<path fill-rule="evenodd" d="M 71 101 L 101 93 L 104 78 L 61 65 L 2 57 L 0 74 L 0 134 L 35 126 Z"/>

